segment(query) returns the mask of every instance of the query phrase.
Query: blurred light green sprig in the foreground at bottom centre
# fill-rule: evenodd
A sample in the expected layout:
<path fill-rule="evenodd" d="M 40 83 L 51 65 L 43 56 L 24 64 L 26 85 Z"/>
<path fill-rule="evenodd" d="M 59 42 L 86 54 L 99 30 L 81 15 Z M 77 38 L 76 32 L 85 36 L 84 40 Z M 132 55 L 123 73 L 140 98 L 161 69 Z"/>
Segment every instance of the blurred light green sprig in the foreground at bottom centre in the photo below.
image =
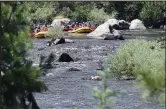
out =
<path fill-rule="evenodd" d="M 99 101 L 97 108 L 99 109 L 111 109 L 110 104 L 113 104 L 114 101 L 111 97 L 117 96 L 117 92 L 114 92 L 108 88 L 107 80 L 110 76 L 108 71 L 100 72 L 99 75 L 102 78 L 100 84 L 103 86 L 103 90 L 98 89 L 97 87 L 93 88 L 93 97 Z"/>

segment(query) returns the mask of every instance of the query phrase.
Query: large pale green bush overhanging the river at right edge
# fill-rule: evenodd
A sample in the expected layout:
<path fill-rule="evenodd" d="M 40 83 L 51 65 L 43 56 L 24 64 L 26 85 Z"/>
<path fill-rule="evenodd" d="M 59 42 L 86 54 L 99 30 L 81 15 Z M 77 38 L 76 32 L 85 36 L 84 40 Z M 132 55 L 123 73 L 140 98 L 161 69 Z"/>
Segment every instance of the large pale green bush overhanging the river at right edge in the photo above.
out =
<path fill-rule="evenodd" d="M 130 40 L 108 58 L 108 69 L 118 78 L 136 76 L 146 87 L 147 96 L 161 95 L 165 92 L 164 52 L 155 41 Z"/>

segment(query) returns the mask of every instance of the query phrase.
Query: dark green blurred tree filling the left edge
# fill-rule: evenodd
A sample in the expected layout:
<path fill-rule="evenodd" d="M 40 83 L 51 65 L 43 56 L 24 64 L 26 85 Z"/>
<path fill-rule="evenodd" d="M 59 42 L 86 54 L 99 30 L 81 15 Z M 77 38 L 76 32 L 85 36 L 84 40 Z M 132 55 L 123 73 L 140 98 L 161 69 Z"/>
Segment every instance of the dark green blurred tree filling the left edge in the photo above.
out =
<path fill-rule="evenodd" d="M 1 2 L 1 109 L 39 109 L 32 93 L 47 89 L 39 67 L 26 59 L 28 16 L 24 2 Z"/>

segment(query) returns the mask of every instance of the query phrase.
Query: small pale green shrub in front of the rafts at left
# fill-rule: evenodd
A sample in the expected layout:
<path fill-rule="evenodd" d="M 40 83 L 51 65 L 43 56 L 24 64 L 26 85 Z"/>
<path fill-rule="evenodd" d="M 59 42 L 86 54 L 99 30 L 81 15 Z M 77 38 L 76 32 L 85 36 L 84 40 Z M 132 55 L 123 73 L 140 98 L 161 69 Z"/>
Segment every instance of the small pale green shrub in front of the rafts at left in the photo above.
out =
<path fill-rule="evenodd" d="M 47 33 L 45 34 L 46 37 L 51 37 L 51 38 L 59 38 L 63 37 L 63 28 L 62 27 L 50 27 L 48 28 Z"/>

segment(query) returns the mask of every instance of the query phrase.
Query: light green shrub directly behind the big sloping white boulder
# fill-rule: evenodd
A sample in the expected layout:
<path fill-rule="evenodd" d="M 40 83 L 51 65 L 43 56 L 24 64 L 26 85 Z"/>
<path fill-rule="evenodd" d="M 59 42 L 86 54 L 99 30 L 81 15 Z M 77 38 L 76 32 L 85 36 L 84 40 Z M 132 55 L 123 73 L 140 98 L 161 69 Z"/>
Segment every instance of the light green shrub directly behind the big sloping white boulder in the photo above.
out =
<path fill-rule="evenodd" d="M 104 9 L 98 9 L 94 8 L 88 13 L 87 20 L 94 21 L 97 24 L 102 24 L 108 19 L 114 18 L 115 13 L 112 15 L 108 15 L 107 13 L 104 12 Z"/>

